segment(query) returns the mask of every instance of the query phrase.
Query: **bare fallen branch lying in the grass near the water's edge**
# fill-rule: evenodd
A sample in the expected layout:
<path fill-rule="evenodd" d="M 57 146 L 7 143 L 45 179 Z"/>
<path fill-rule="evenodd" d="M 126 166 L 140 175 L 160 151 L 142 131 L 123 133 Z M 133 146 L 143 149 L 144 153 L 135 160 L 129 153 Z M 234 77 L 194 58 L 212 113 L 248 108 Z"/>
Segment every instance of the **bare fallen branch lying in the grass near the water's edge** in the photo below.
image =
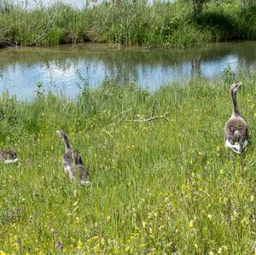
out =
<path fill-rule="evenodd" d="M 147 119 L 141 117 L 139 114 L 136 114 L 138 119 L 126 119 L 128 113 L 131 112 L 131 110 L 132 110 L 132 108 L 130 108 L 128 110 L 125 110 L 125 111 L 117 114 L 114 118 L 117 118 L 120 115 L 123 115 L 123 116 L 118 121 L 113 122 L 111 125 L 119 125 L 119 124 L 121 124 L 123 122 L 124 123 L 131 123 L 131 122 L 134 122 L 134 123 L 135 122 L 137 122 L 137 123 L 147 123 L 147 122 L 150 122 L 150 121 L 154 121 L 155 119 L 166 119 L 167 121 L 169 121 L 167 116 L 170 114 L 170 112 L 164 113 L 163 115 L 156 115 L 156 116 L 154 116 L 154 109 L 155 109 L 156 103 L 159 103 L 159 101 L 154 100 L 154 103 L 153 103 L 153 105 L 151 107 L 150 117 L 148 117 Z"/>

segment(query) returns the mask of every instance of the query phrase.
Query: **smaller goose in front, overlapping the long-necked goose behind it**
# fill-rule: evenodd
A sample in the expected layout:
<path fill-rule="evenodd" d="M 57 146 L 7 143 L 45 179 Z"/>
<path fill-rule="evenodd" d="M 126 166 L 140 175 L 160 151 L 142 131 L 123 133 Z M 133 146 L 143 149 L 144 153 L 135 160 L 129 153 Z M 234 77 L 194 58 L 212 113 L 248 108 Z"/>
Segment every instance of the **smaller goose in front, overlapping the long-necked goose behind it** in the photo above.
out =
<path fill-rule="evenodd" d="M 86 167 L 84 167 L 84 165 L 81 165 L 79 159 L 80 154 L 78 150 L 73 150 L 73 166 L 71 167 L 71 172 L 73 174 L 72 177 L 70 177 L 72 180 L 74 180 L 75 178 L 78 179 L 79 183 L 81 185 L 86 185 L 89 186 L 90 185 L 90 179 L 89 179 L 89 171 L 86 169 Z"/>

